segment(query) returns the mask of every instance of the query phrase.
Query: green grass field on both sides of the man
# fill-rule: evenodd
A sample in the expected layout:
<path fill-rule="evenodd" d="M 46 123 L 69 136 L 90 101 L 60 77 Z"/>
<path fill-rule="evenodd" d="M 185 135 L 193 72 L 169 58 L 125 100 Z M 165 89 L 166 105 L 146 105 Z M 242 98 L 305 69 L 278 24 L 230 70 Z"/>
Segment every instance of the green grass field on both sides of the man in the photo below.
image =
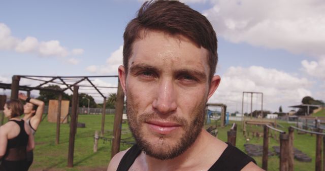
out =
<path fill-rule="evenodd" d="M 41 122 L 39 129 L 35 135 L 36 147 L 34 150 L 34 163 L 31 165 L 30 170 L 106 170 L 107 165 L 111 158 L 111 142 L 99 140 L 98 152 L 93 153 L 93 137 L 94 132 L 101 129 L 101 115 L 79 115 L 78 122 L 83 122 L 86 124 L 85 128 L 78 128 L 75 140 L 75 150 L 74 150 L 74 167 L 67 167 L 68 159 L 68 146 L 69 146 L 69 124 L 61 124 L 60 129 L 60 144 L 55 145 L 55 130 L 56 123 L 49 123 L 44 119 Z M 5 119 L 7 120 L 7 119 Z M 106 115 L 105 121 L 105 137 L 111 138 L 113 130 L 113 120 L 114 115 Z M 246 140 L 242 134 L 241 124 L 237 122 L 237 142 L 236 146 L 244 150 L 244 144 Z M 215 122 L 212 121 L 210 125 L 214 125 Z M 283 131 L 287 131 L 287 123 L 281 123 L 285 126 Z M 209 127 L 210 125 L 205 125 Z M 230 125 L 224 127 L 223 129 L 218 128 L 218 138 L 226 141 L 226 132 L 230 130 Z M 263 127 L 261 126 L 247 126 L 247 131 L 263 133 Z M 278 133 L 270 131 L 270 134 Z M 122 139 L 127 139 L 131 137 L 131 133 L 128 131 L 127 123 L 122 124 Z M 263 145 L 263 137 L 257 139 L 250 136 L 250 144 Z M 132 140 L 132 138 L 131 138 Z M 311 162 L 299 162 L 295 160 L 295 170 L 314 170 L 315 169 L 315 145 L 316 137 L 310 134 L 298 135 L 295 133 L 294 146 L 306 153 L 308 156 L 312 157 Z M 121 150 L 127 149 L 131 145 L 121 144 Z M 279 143 L 274 139 L 270 138 L 269 148 L 273 151 L 272 146 L 279 146 Z M 254 157 L 257 164 L 262 166 L 262 157 Z M 270 156 L 268 162 L 268 170 L 279 170 L 279 157 Z"/>

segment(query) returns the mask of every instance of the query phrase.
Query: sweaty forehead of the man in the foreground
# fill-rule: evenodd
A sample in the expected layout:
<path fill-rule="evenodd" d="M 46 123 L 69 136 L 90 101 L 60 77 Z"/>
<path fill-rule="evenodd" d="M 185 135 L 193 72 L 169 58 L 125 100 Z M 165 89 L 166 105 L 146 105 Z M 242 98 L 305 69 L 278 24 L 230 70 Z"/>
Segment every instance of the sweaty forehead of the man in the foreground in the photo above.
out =
<path fill-rule="evenodd" d="M 154 63 L 164 67 L 196 67 L 209 71 L 208 51 L 187 37 L 162 31 L 141 31 L 133 44 L 128 68 L 134 64 Z"/>

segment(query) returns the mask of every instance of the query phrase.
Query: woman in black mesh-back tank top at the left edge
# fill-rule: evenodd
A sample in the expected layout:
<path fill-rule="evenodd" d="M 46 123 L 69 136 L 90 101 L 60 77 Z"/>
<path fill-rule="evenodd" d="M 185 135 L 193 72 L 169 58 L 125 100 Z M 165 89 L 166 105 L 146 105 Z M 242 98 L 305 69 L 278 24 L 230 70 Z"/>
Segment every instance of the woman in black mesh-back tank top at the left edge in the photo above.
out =
<path fill-rule="evenodd" d="M 20 116 L 23 105 L 19 100 L 8 101 L 4 106 L 9 121 L 0 127 L 0 170 L 28 170 L 26 153 L 34 149 L 34 136 Z"/>

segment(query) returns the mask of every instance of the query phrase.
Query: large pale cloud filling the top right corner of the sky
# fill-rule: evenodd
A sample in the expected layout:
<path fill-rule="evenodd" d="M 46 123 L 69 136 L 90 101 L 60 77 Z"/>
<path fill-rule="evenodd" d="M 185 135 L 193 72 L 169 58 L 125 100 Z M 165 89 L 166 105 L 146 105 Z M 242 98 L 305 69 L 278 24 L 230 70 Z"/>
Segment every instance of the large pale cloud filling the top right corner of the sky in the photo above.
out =
<path fill-rule="evenodd" d="M 232 42 L 319 57 L 325 53 L 324 1 L 212 1 L 204 11 L 218 35 Z"/>

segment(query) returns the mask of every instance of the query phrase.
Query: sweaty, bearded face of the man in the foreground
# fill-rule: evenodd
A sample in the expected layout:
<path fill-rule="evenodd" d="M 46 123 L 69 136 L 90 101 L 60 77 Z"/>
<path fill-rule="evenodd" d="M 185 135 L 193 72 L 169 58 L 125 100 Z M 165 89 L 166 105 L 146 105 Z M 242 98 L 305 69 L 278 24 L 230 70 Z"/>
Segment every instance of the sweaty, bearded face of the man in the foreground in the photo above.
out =
<path fill-rule="evenodd" d="M 119 67 L 128 123 L 146 154 L 171 159 L 199 136 L 207 99 L 220 78 L 209 84 L 208 52 L 188 38 L 159 31 L 141 37 L 134 42 L 128 73 Z"/>

